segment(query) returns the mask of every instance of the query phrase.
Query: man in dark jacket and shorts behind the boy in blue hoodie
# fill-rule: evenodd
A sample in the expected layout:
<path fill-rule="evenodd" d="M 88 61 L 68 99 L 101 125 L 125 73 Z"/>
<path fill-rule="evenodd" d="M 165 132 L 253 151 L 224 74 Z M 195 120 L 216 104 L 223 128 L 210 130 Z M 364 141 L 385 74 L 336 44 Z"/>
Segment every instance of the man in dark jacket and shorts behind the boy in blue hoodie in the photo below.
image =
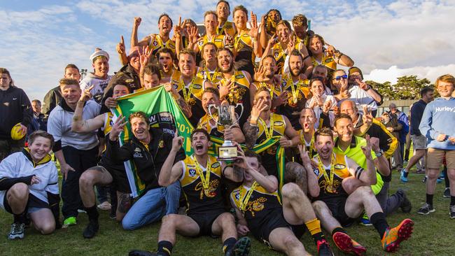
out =
<path fill-rule="evenodd" d="M 409 171 L 420 161 L 422 157 L 426 159 L 426 137 L 421 134 L 419 130 L 420 121 L 422 119 L 423 111 L 425 110 L 426 104 L 430 103 L 434 99 L 434 89 L 431 87 L 424 87 L 420 90 L 421 99 L 414 103 L 411 108 L 411 140 L 414 146 L 415 154 L 409 159 L 406 168 L 401 171 L 401 181 L 407 183 L 407 176 Z M 426 161 L 425 161 L 426 162 Z"/>

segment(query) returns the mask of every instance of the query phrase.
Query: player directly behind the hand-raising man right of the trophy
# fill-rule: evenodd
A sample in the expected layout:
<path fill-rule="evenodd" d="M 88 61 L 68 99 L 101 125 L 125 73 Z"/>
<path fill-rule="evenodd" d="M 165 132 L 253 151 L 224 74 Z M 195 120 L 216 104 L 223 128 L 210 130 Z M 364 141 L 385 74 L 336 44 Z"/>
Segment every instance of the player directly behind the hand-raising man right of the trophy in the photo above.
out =
<path fill-rule="evenodd" d="M 260 60 L 260 66 L 258 72 L 254 74 L 254 83 L 250 86 L 250 103 L 253 105 L 254 95 L 259 88 L 263 87 L 270 92 L 272 99 L 272 106 L 270 108 L 275 109 L 288 101 L 288 94 L 281 93 L 282 87 L 279 83 L 279 76 L 275 76 L 276 73 L 276 60 L 272 55 L 262 57 Z"/>

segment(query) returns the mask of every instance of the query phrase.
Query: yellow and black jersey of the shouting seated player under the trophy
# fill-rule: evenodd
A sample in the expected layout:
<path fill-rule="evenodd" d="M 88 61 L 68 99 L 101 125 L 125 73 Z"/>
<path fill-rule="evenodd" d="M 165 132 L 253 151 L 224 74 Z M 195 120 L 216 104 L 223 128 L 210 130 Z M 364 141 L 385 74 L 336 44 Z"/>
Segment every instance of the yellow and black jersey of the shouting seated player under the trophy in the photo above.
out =
<path fill-rule="evenodd" d="M 209 166 L 209 179 L 205 179 L 207 185 L 200 177 L 207 177 L 206 166 L 202 166 L 195 161 L 195 156 L 187 156 L 181 164 L 183 173 L 180 178 L 181 187 L 186 197 L 187 213 L 204 213 L 223 209 L 223 197 L 221 195 L 221 164 L 215 157 L 209 156 L 207 159 Z"/>

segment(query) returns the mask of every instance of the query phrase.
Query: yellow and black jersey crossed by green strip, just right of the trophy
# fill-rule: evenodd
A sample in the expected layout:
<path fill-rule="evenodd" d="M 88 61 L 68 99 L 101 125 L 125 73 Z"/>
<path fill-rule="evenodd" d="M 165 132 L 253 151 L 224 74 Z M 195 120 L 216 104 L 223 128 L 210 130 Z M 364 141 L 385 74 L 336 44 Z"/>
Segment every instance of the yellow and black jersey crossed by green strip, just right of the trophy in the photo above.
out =
<path fill-rule="evenodd" d="M 284 136 L 286 130 L 286 122 L 283 115 L 270 113 L 269 126 L 262 119 L 258 120 L 258 136 L 256 144 L 260 144 L 272 136 Z M 276 148 L 278 144 L 272 145 L 264 152 L 260 153 L 262 157 L 262 165 L 267 170 L 269 175 L 278 175 L 278 163 L 276 162 Z"/>

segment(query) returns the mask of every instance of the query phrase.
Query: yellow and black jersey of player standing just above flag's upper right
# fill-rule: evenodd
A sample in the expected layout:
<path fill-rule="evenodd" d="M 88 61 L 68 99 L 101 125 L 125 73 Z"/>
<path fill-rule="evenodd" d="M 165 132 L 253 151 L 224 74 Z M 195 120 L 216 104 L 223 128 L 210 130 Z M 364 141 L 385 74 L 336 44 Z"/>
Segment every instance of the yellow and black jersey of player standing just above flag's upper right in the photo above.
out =
<path fill-rule="evenodd" d="M 193 80 L 188 84 L 184 85 L 181 73 L 174 72 L 171 78 L 172 86 L 179 92 L 180 96 L 185 99 L 188 106 L 191 108 L 191 118 L 189 118 L 193 126 L 197 126 L 197 122 L 204 116 L 205 111 L 202 107 L 202 94 L 204 92 L 205 80 L 193 76 Z"/>

